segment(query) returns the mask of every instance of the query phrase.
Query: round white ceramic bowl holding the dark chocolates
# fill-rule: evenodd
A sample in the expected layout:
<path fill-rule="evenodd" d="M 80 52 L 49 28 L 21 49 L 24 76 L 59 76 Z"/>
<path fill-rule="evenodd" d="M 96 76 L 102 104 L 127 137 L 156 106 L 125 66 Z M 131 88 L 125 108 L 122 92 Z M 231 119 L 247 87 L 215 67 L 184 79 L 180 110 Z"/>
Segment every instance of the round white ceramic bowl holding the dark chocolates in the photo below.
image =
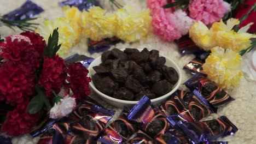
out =
<path fill-rule="evenodd" d="M 125 49 L 122 49 L 122 51 L 124 51 L 124 50 L 125 50 Z M 142 49 L 138 49 L 138 50 L 139 50 L 139 51 L 142 51 Z M 161 54 L 159 54 L 159 55 L 162 56 L 162 57 L 165 57 L 165 56 L 163 56 L 163 55 L 161 55 Z M 177 71 L 177 73 L 178 73 L 178 75 L 179 75 L 179 79 L 178 79 L 177 83 L 173 86 L 172 91 L 168 92 L 168 93 L 165 94 L 165 95 L 162 95 L 161 97 L 158 97 L 158 98 L 155 98 L 155 99 L 151 99 L 153 105 L 158 105 L 158 104 L 160 104 L 162 101 L 164 101 L 165 99 L 167 99 L 172 93 L 174 93 L 174 92 L 178 89 L 179 85 L 181 85 L 181 80 L 182 80 L 181 69 L 179 69 L 178 65 L 177 65 L 175 62 L 173 62 L 171 59 L 169 59 L 168 57 L 165 57 L 165 59 L 166 59 L 165 65 L 166 65 L 167 67 L 173 67 L 173 68 Z M 101 56 L 100 56 L 100 57 L 96 58 L 96 59 L 89 65 L 89 67 L 88 67 L 88 70 L 89 70 L 88 76 L 89 76 L 89 77 L 92 78 L 92 75 L 94 75 L 94 74 L 96 73 L 95 70 L 92 69 L 92 67 L 97 66 L 97 65 L 100 65 L 101 63 L 102 63 L 102 62 L 101 62 Z M 104 93 L 98 91 L 98 89 L 95 87 L 95 85 L 94 85 L 94 83 L 93 83 L 92 81 L 89 83 L 89 85 L 90 85 L 90 87 L 91 87 L 92 89 L 94 89 L 94 91 L 95 91 L 98 95 L 101 96 L 101 98 L 102 98 L 104 101 L 106 101 L 106 102 L 109 103 L 110 105 L 113 105 L 113 106 L 116 106 L 116 107 L 124 107 L 124 106 L 126 106 L 126 107 L 132 107 L 133 105 L 135 105 L 135 104 L 138 103 L 138 101 L 120 100 L 120 99 L 112 98 L 112 97 L 110 97 L 110 96 L 108 96 L 108 95 L 106 95 L 106 94 L 104 94 Z"/>

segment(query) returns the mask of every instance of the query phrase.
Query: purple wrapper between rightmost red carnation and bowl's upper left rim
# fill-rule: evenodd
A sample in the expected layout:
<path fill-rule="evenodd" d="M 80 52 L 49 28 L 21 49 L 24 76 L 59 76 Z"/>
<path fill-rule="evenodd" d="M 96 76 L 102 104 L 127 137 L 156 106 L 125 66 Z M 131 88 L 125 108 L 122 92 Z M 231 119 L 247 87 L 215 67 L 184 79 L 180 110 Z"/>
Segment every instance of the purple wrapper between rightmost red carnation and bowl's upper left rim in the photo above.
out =
<path fill-rule="evenodd" d="M 65 59 L 66 63 L 72 63 L 72 62 L 80 62 L 84 65 L 84 67 L 88 68 L 89 65 L 94 61 L 94 58 L 87 57 L 85 55 L 78 55 L 77 53 L 75 55 L 72 55 Z"/>

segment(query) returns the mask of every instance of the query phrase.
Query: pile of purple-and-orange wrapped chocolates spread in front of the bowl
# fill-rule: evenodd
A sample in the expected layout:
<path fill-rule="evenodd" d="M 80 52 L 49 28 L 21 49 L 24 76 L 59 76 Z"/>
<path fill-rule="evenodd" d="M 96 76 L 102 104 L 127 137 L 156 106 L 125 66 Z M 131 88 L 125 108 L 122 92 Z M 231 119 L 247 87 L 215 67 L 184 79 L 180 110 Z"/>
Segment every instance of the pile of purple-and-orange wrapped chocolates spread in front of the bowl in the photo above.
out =
<path fill-rule="evenodd" d="M 238 130 L 227 117 L 199 121 L 234 99 L 202 75 L 185 85 L 191 92 L 177 90 L 159 106 L 143 96 L 108 126 L 115 111 L 88 98 L 68 117 L 45 119 L 31 134 L 43 134 L 39 143 L 227 143 L 213 141 Z"/>

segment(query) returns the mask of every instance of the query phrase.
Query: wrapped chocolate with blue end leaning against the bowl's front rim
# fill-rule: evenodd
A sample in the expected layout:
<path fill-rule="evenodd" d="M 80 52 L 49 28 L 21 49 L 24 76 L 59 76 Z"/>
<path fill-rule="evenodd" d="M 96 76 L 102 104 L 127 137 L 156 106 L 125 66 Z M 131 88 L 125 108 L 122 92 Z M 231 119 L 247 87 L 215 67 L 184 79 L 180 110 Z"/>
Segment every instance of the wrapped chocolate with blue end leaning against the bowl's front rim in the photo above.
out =
<path fill-rule="evenodd" d="M 149 98 L 146 96 L 139 100 L 127 117 L 153 138 L 164 134 L 165 131 L 170 129 L 170 123 L 167 122 L 166 116 L 159 109 L 152 106 Z"/>

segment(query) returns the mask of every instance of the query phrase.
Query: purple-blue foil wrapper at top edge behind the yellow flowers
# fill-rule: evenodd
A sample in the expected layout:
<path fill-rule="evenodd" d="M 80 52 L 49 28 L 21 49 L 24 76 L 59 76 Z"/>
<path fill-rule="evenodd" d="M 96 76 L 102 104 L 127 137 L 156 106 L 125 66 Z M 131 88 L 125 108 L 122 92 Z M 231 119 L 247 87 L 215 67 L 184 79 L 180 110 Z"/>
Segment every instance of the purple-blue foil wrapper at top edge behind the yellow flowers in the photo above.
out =
<path fill-rule="evenodd" d="M 85 9 L 86 11 L 90 9 L 93 5 L 100 6 L 98 1 L 89 1 L 89 0 L 67 0 L 59 2 L 61 7 L 64 7 L 65 5 L 69 5 L 70 7 L 77 7 L 80 11 L 83 11 Z"/>

